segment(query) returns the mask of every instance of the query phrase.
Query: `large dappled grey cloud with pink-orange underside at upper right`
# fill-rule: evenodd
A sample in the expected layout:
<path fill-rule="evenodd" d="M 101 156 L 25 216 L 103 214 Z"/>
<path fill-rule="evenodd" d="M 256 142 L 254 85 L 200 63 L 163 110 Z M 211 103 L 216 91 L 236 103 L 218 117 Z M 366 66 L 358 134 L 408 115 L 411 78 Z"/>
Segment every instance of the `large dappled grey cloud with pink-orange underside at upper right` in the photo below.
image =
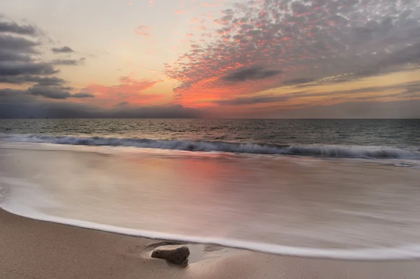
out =
<path fill-rule="evenodd" d="M 217 29 L 201 35 L 206 41 L 193 43 L 165 73 L 181 83 L 174 88 L 176 99 L 193 103 L 206 94 L 229 99 L 330 76 L 342 76 L 329 80 L 334 83 L 399 71 L 420 64 L 419 8 L 418 1 L 391 0 L 232 3 L 214 20 Z M 241 79 L 254 66 L 283 73 L 255 83 Z M 230 75 L 237 84 L 228 84 Z"/>

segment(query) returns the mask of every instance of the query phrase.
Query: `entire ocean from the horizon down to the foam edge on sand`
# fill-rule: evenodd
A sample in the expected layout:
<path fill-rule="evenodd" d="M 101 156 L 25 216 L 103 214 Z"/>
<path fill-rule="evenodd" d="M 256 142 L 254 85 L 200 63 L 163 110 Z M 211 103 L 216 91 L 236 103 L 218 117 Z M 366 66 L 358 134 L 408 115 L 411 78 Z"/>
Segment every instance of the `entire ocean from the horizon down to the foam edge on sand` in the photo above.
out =
<path fill-rule="evenodd" d="M 420 257 L 420 120 L 0 120 L 0 207 L 120 234 Z"/>

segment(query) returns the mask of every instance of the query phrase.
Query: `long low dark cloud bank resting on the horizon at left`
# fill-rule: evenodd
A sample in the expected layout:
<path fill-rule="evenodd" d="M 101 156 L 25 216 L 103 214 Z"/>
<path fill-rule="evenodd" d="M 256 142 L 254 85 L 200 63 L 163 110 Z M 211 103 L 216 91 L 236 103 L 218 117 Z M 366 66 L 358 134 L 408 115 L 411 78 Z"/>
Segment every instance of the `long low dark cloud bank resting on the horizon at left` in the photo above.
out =
<path fill-rule="evenodd" d="M 106 110 L 83 103 L 49 101 L 27 94 L 26 90 L 0 89 L 0 118 L 190 118 L 201 115 L 200 110 L 180 105 Z"/>

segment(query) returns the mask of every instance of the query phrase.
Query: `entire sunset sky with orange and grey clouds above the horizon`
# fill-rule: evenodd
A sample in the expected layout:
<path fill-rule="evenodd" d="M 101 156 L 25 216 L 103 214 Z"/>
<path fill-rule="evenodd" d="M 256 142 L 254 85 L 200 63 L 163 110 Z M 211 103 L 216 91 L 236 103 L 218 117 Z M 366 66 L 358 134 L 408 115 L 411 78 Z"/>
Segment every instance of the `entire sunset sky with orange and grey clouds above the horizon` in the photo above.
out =
<path fill-rule="evenodd" d="M 418 0 L 2 0 L 0 117 L 419 118 Z"/>

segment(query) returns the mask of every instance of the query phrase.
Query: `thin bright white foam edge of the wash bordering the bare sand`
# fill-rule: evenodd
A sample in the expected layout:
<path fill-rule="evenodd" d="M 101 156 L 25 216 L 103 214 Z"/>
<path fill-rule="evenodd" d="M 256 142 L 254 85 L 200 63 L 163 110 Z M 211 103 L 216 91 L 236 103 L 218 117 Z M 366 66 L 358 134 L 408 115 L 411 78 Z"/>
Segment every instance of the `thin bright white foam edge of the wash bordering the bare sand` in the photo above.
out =
<path fill-rule="evenodd" d="M 1 178 L 5 180 L 5 178 Z M 8 179 L 10 182 L 10 178 Z M 15 180 L 17 182 L 18 180 Z M 215 237 L 198 237 L 189 236 L 185 234 L 167 234 L 159 231 L 146 231 L 139 229 L 130 229 L 125 227 L 116 227 L 107 224 L 98 224 L 94 222 L 86 222 L 82 220 L 73 220 L 64 217 L 57 217 L 47 215 L 37 211 L 36 207 L 40 204 L 43 206 L 57 206 L 55 201 L 46 198 L 40 193 L 34 191 L 32 187 L 27 187 L 29 183 L 20 182 L 13 183 L 16 185 L 26 185 L 27 191 L 25 194 L 20 192 L 20 196 L 14 195 L 7 201 L 0 203 L 0 208 L 15 215 L 28 217 L 34 220 L 41 220 L 46 222 L 55 222 L 59 224 L 68 224 L 75 227 L 86 229 L 96 229 L 99 231 L 109 231 L 116 234 L 125 234 L 127 236 L 139 236 L 146 238 L 165 239 L 168 241 L 185 241 L 190 243 L 204 243 L 223 245 L 231 248 L 241 248 L 248 250 L 255 250 L 260 252 L 268 252 L 276 255 L 289 255 L 299 257 L 321 257 L 331 259 L 358 259 L 358 260 L 384 260 L 384 259 L 417 259 L 420 257 L 420 245 L 412 244 L 392 248 L 377 248 L 377 249 L 317 249 L 317 248 L 300 248 L 292 246 L 277 245 L 274 243 L 260 243 L 249 241 L 240 241 L 234 238 L 215 238 Z M 1 187 L 0 187 L 1 189 Z M 4 189 L 4 188 L 3 188 Z M 29 190 L 31 189 L 31 190 Z M 42 203 L 38 203 L 42 201 Z"/>

